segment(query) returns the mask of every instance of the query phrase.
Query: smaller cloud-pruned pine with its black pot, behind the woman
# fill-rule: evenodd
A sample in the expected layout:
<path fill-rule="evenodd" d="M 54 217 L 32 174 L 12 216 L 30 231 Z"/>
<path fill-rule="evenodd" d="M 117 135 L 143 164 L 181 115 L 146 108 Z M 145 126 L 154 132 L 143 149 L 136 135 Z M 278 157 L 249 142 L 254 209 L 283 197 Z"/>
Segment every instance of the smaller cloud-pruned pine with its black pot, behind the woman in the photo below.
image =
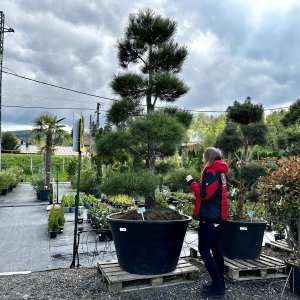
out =
<path fill-rule="evenodd" d="M 230 164 L 229 183 L 236 182 L 234 214 L 222 225 L 221 247 L 224 256 L 236 259 L 259 258 L 266 221 L 255 219 L 250 210 L 244 214 L 247 193 L 255 191 L 257 180 L 265 174 L 264 166 L 251 161 L 251 150 L 267 142 L 267 127 L 263 121 L 263 107 L 247 97 L 244 103 L 234 102 L 227 108 L 227 124 L 216 146 L 225 154 L 237 157 Z M 230 175 L 235 172 L 234 180 Z M 252 200 L 253 197 L 252 197 Z M 258 197 L 256 197 L 258 201 Z"/>

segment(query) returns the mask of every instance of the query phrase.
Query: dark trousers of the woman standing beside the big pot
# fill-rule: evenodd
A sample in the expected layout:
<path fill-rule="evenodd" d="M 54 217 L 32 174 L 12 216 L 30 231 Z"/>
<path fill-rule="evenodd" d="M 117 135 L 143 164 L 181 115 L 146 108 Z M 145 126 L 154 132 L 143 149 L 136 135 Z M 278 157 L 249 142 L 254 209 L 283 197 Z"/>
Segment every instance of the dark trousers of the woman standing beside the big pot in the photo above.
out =
<path fill-rule="evenodd" d="M 213 281 L 224 280 L 224 257 L 220 249 L 220 227 L 211 222 L 199 222 L 198 248 Z M 212 253 L 211 253 L 212 252 Z"/>

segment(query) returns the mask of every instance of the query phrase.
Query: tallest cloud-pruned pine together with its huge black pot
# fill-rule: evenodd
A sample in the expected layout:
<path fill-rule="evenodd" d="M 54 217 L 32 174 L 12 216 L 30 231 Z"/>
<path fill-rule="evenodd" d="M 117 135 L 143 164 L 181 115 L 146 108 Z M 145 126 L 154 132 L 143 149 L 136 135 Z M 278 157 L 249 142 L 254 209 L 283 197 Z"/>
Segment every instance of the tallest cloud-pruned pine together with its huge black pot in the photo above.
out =
<path fill-rule="evenodd" d="M 176 153 L 192 121 L 190 113 L 177 108 L 156 110 L 158 103 L 173 103 L 189 90 L 178 76 L 187 49 L 175 43 L 175 31 L 175 21 L 149 9 L 129 16 L 117 53 L 119 66 L 126 71 L 111 81 L 121 99 L 109 109 L 110 126 L 97 139 L 99 161 L 118 162 L 120 171 L 127 171 L 109 178 L 114 190 L 104 183 L 107 190 L 101 191 L 145 198 L 143 215 L 134 210 L 108 218 L 119 264 L 131 273 L 173 271 L 190 221 L 174 210 L 159 209 L 155 202 L 156 161 Z M 128 172 L 130 161 L 133 169 L 147 171 Z"/>

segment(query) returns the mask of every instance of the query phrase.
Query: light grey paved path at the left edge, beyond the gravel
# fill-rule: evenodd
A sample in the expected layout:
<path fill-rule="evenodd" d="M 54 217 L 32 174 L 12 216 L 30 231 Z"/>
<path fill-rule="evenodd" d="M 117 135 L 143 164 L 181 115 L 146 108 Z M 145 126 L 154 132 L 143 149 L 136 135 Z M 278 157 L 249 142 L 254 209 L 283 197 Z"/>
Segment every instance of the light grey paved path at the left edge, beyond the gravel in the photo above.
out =
<path fill-rule="evenodd" d="M 45 203 L 29 183 L 0 197 L 0 273 L 51 267 Z"/>

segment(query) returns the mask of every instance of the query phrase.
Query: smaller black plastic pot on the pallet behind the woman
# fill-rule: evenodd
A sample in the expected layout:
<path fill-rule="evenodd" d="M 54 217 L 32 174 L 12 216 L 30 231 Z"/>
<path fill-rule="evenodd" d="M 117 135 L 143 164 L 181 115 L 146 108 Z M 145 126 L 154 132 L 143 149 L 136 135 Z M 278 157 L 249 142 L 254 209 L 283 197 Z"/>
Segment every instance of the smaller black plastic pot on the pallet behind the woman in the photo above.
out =
<path fill-rule="evenodd" d="M 227 221 L 221 227 L 221 249 L 230 259 L 260 257 L 267 222 Z"/>

